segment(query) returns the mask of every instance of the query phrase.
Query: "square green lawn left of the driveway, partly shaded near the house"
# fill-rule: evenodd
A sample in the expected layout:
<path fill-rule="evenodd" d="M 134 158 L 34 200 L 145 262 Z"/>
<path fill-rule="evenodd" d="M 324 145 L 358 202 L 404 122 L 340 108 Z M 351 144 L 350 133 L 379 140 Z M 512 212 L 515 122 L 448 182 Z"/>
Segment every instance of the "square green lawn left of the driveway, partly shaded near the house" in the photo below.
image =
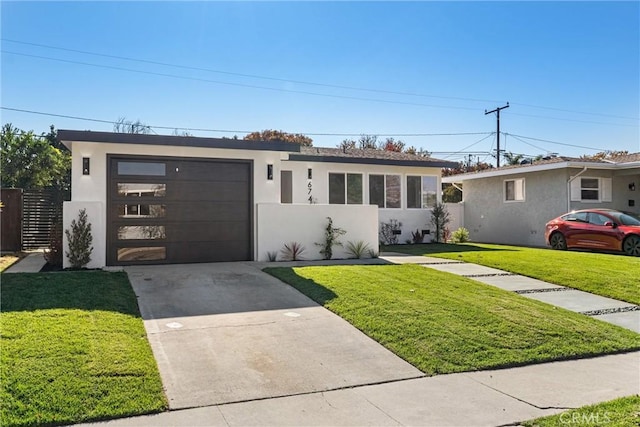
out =
<path fill-rule="evenodd" d="M 3 274 L 0 425 L 78 423 L 167 408 L 124 273 Z"/>

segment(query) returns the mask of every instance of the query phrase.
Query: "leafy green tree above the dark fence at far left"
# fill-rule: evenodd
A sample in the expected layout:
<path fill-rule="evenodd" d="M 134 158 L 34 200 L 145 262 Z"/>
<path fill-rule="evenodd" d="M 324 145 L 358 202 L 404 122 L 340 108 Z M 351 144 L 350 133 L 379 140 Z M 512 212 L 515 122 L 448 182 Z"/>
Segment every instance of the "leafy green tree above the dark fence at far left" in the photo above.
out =
<path fill-rule="evenodd" d="M 69 189 L 71 154 L 59 148 L 55 129 L 37 136 L 7 123 L 0 143 L 0 181 L 3 187 Z"/>

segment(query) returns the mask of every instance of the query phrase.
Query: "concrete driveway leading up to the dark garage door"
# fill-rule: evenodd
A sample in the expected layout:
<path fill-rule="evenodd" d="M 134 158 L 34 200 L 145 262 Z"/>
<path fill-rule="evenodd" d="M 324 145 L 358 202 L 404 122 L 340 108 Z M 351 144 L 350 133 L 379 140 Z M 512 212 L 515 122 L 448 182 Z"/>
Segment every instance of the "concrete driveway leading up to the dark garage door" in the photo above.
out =
<path fill-rule="evenodd" d="M 257 263 L 125 270 L 171 409 L 424 376 Z"/>

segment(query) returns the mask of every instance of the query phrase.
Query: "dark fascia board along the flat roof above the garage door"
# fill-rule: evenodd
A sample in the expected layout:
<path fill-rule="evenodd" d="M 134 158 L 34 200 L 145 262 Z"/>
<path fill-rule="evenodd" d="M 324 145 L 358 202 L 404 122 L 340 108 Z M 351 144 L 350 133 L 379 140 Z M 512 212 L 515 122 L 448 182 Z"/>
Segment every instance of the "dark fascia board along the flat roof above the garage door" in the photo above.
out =
<path fill-rule="evenodd" d="M 102 142 L 112 144 L 166 145 L 176 147 L 224 148 L 232 150 L 300 152 L 300 145 L 289 142 L 247 141 L 244 139 L 201 138 L 195 136 L 146 135 L 140 133 L 58 130 L 61 142 Z"/>

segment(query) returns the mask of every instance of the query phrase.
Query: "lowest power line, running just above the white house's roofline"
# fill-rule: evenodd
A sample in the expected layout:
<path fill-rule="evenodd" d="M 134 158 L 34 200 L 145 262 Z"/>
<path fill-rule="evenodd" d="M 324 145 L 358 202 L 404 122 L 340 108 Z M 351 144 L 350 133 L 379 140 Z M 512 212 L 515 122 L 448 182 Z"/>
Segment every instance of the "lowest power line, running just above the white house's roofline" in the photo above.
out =
<path fill-rule="evenodd" d="M 12 108 L 12 107 L 0 107 L 0 109 L 7 111 L 16 111 L 20 113 L 27 114 L 38 114 L 41 116 L 51 116 L 51 117 L 61 117 L 65 119 L 72 120 L 84 120 L 89 122 L 97 122 L 97 123 L 107 123 L 107 124 L 116 124 L 115 120 L 103 120 L 103 119 L 94 119 L 88 117 L 79 117 L 79 116 L 71 116 L 66 114 L 55 114 L 55 113 L 46 113 L 42 111 L 33 111 L 33 110 L 24 110 L 20 108 Z M 251 133 L 255 130 L 238 130 L 238 129 L 207 129 L 207 128 L 189 128 L 189 127 L 180 127 L 180 126 L 155 126 L 155 125 L 146 125 L 149 128 L 153 129 L 168 129 L 168 130 L 187 130 L 194 132 L 215 132 L 215 133 Z M 309 136 L 361 136 L 365 133 L 331 133 L 331 132 L 291 132 L 291 133 L 301 133 Z M 492 134 L 493 132 L 447 132 L 447 133 L 370 133 L 371 135 L 377 136 L 396 136 L 396 137 L 407 137 L 407 136 L 466 136 L 466 135 L 486 135 Z"/>

